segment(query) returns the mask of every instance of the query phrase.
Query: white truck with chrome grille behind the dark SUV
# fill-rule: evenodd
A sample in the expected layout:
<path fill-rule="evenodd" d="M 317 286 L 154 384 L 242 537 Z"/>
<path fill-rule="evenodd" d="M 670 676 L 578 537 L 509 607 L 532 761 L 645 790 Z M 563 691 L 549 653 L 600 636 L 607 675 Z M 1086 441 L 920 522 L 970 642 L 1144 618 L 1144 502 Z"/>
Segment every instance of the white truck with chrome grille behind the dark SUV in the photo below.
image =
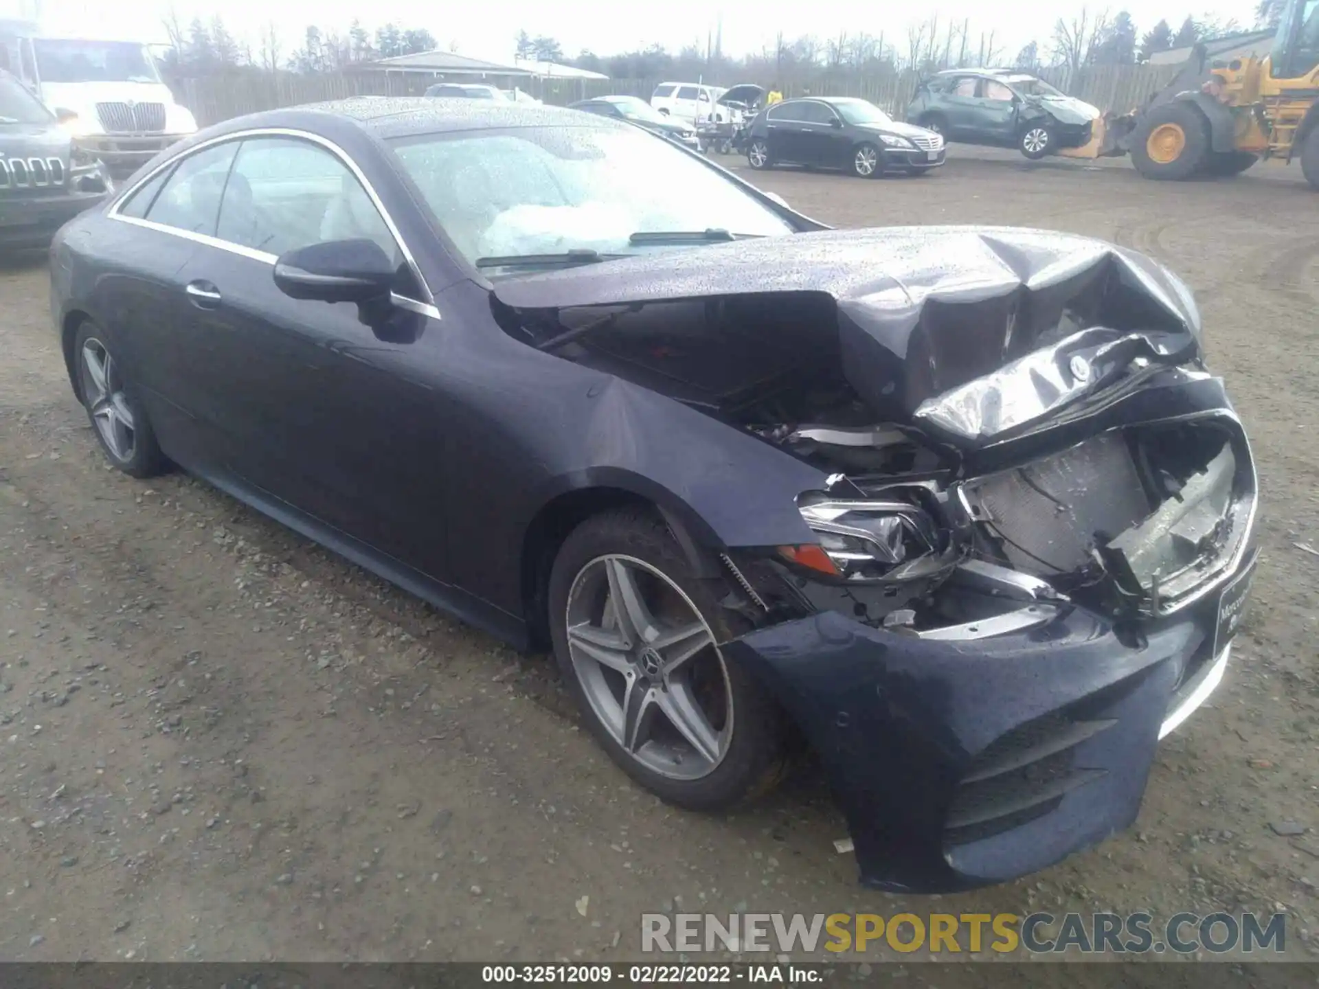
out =
<path fill-rule="evenodd" d="M 40 33 L 0 21 L 0 69 L 18 76 L 116 177 L 197 131 L 138 41 Z"/>

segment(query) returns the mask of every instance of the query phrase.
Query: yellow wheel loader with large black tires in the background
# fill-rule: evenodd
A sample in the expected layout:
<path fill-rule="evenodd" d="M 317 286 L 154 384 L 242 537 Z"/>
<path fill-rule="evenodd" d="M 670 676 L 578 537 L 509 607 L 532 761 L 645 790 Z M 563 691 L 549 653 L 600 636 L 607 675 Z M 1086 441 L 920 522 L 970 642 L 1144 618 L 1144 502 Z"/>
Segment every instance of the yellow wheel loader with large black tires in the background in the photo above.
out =
<path fill-rule="evenodd" d="M 1264 58 L 1215 62 L 1198 46 L 1142 108 L 1096 120 L 1089 144 L 1059 154 L 1130 154 L 1146 178 L 1173 181 L 1299 158 L 1319 190 L 1319 0 L 1287 0 Z"/>

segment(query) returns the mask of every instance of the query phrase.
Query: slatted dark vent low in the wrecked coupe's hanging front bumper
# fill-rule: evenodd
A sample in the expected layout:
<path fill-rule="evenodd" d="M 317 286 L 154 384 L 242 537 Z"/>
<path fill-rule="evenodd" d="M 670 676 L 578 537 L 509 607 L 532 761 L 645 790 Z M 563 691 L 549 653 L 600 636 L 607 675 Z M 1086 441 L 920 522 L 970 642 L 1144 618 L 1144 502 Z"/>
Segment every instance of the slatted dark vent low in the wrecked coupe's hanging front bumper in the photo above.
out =
<path fill-rule="evenodd" d="M 944 844 L 963 845 L 1021 827 L 1108 770 L 1074 765 L 1075 748 L 1117 721 L 1078 721 L 1053 713 L 987 748 L 962 778 L 944 824 Z"/>

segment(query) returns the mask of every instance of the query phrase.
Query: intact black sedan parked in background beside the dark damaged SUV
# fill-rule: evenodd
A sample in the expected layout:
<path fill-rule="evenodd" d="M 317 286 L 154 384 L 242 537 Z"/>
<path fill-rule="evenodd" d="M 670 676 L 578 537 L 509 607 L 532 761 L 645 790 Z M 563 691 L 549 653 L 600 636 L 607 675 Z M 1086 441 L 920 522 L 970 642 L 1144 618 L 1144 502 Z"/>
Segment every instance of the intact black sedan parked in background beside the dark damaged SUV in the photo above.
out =
<path fill-rule="evenodd" d="M 861 99 L 783 100 L 762 109 L 747 136 L 753 169 L 806 165 L 843 169 L 861 178 L 885 171 L 923 175 L 943 165 L 943 137 L 901 124 Z"/>

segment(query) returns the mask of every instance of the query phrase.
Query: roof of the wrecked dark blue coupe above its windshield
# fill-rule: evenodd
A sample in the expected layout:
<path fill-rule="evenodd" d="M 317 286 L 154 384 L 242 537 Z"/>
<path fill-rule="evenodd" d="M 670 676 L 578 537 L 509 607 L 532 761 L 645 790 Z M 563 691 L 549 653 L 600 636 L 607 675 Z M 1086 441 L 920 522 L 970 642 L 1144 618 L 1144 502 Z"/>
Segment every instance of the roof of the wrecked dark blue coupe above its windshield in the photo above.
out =
<path fill-rule="evenodd" d="M 207 133 L 262 127 L 303 128 L 315 132 L 330 123 L 327 119 L 335 119 L 339 125 L 355 124 L 383 138 L 505 127 L 624 127 L 567 107 L 547 107 L 539 103 L 445 96 L 353 96 L 235 117 Z"/>

